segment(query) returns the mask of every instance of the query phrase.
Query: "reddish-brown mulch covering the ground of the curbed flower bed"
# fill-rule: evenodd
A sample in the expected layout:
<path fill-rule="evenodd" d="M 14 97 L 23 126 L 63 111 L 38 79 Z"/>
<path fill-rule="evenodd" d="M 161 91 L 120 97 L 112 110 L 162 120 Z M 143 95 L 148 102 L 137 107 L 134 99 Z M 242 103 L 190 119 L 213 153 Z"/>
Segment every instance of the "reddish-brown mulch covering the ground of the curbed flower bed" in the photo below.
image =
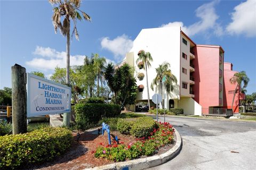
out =
<path fill-rule="evenodd" d="M 61 156 L 55 158 L 55 160 L 45 162 L 39 165 L 33 165 L 25 169 L 40 169 L 40 170 L 78 170 L 90 167 L 97 167 L 106 164 L 112 164 L 114 161 L 105 159 L 105 158 L 95 158 L 92 151 L 95 151 L 100 143 L 103 143 L 104 146 L 108 145 L 108 135 L 105 132 L 104 135 L 98 135 L 97 132 L 79 132 L 81 137 L 77 142 L 77 132 L 73 132 L 73 143 L 71 148 Z M 128 145 L 131 142 L 135 142 L 135 137 L 131 135 L 124 135 L 117 131 L 111 131 L 111 139 L 117 135 L 119 141 L 123 141 L 125 145 Z M 174 141 L 176 141 L 174 135 Z M 175 142 L 171 145 L 166 145 L 159 148 L 155 155 L 163 154 L 164 152 L 170 150 L 175 145 Z M 146 157 L 146 156 L 143 156 Z M 141 158 L 143 158 L 141 157 Z"/>

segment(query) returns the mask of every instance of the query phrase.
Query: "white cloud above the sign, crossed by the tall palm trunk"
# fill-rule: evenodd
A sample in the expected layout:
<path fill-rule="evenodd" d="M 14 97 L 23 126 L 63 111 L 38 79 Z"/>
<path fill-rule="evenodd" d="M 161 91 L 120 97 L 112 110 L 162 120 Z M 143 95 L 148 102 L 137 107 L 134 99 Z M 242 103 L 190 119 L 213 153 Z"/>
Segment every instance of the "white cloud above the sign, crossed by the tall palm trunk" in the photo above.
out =
<path fill-rule="evenodd" d="M 37 46 L 33 54 L 41 57 L 36 57 L 26 62 L 32 68 L 46 71 L 54 70 L 56 66 L 66 67 L 66 52 L 58 52 L 50 47 Z M 83 55 L 70 55 L 70 66 L 82 65 L 84 57 Z"/>

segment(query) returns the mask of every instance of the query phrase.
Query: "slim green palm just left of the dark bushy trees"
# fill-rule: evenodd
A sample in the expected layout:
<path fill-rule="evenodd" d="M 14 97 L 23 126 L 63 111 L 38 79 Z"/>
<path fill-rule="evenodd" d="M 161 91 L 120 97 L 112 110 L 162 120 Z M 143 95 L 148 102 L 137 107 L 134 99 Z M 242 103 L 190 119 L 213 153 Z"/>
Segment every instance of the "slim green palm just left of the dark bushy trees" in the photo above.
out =
<path fill-rule="evenodd" d="M 94 54 L 94 69 L 97 74 L 97 96 L 100 96 L 100 88 L 99 81 L 101 82 L 102 88 L 102 80 L 103 80 L 103 69 L 105 68 L 106 58 L 99 57 L 99 54 Z"/>

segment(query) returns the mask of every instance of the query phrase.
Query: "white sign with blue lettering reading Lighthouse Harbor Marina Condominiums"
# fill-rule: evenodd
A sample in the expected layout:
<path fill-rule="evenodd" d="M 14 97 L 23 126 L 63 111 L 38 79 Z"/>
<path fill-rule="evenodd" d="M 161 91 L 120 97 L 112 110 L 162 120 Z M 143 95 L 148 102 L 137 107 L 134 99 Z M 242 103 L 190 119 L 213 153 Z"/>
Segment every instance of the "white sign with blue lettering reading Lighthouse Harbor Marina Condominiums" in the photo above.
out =
<path fill-rule="evenodd" d="M 71 88 L 27 73 L 27 117 L 69 113 Z"/>

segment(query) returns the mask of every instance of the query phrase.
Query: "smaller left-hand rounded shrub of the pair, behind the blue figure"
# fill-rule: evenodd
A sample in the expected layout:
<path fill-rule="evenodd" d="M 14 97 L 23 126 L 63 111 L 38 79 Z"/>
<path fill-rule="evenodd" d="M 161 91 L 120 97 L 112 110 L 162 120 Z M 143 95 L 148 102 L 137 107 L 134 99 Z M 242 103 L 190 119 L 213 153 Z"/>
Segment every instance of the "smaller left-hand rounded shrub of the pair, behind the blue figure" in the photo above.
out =
<path fill-rule="evenodd" d="M 130 134 L 132 125 L 135 123 L 131 118 L 120 118 L 117 122 L 117 130 L 122 134 Z"/>

